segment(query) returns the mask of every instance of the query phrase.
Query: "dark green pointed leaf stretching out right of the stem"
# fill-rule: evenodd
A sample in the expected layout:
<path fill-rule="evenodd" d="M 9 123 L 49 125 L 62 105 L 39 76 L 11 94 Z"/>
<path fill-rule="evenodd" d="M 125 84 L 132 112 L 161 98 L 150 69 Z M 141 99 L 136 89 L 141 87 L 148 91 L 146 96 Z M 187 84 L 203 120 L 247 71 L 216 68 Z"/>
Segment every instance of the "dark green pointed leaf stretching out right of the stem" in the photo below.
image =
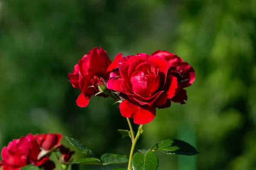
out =
<path fill-rule="evenodd" d="M 160 150 L 161 152 L 166 154 L 187 156 L 192 156 L 199 153 L 191 144 L 178 139 L 164 140 L 152 146 L 150 150 Z"/>

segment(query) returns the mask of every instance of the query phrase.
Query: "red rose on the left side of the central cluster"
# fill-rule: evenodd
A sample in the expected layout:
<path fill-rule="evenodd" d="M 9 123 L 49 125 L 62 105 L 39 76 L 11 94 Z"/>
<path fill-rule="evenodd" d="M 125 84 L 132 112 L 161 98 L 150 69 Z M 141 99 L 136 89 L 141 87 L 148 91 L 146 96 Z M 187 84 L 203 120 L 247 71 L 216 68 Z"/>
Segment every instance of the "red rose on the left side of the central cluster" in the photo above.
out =
<path fill-rule="evenodd" d="M 107 69 L 110 64 L 111 60 L 107 52 L 101 47 L 99 49 L 95 47 L 79 60 L 73 73 L 68 74 L 73 87 L 81 90 L 76 100 L 78 106 L 86 107 L 90 97 L 99 92 L 99 85 L 105 85 L 105 81 L 109 78 Z M 107 95 L 102 93 L 99 96 L 106 97 Z"/>

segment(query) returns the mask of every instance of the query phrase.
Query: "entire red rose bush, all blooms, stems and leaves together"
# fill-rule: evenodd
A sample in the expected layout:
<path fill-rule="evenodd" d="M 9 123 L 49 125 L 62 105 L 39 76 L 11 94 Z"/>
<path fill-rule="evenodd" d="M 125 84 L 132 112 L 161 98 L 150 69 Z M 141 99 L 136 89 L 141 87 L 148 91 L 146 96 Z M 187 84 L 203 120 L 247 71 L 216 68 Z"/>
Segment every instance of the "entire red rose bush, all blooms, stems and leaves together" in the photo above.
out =
<path fill-rule="evenodd" d="M 96 158 L 92 150 L 66 136 L 73 147 L 86 155 L 86 158 L 73 161 L 74 151 L 60 143 L 61 134 L 29 134 L 14 139 L 7 147 L 3 147 L 1 170 L 20 170 L 23 167 L 52 170 L 55 163 L 50 160 L 50 156 L 57 151 L 59 153 L 55 155 L 56 160 L 63 170 L 70 169 L 71 164 L 97 164 L 106 169 L 108 164 L 126 162 L 127 170 L 157 170 L 159 161 L 153 151 L 190 156 L 199 153 L 195 147 L 178 139 L 166 139 L 134 153 L 137 140 L 143 133 L 143 126 L 154 119 L 156 108 L 168 108 L 171 101 L 184 104 L 184 100 L 187 100 L 184 88 L 195 81 L 195 71 L 177 55 L 161 50 L 151 55 L 138 53 L 127 57 L 122 57 L 122 53 L 119 53 L 111 62 L 106 51 L 95 47 L 79 60 L 68 77 L 73 87 L 81 90 L 76 100 L 78 106 L 86 107 L 93 95 L 111 96 L 120 103 L 120 112 L 126 117 L 130 130 L 119 129 L 118 132 L 122 137 L 131 138 L 129 159 L 126 155 L 115 153 L 104 153 Z M 129 118 L 140 124 L 136 136 Z M 150 166 L 145 167 L 145 164 Z M 26 165 L 29 166 L 25 167 Z M 72 167 L 78 168 L 77 165 Z"/>

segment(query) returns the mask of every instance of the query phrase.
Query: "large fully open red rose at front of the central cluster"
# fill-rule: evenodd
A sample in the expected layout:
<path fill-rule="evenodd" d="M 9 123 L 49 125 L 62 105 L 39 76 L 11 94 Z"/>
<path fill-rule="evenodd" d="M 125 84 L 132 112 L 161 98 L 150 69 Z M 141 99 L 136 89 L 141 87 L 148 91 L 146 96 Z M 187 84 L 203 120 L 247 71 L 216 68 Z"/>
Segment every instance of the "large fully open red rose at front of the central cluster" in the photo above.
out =
<path fill-rule="evenodd" d="M 156 108 L 170 107 L 178 82 L 169 71 L 169 62 L 158 56 L 137 54 L 119 59 L 118 66 L 119 74 L 111 73 L 107 87 L 121 92 L 125 99 L 119 106 L 122 116 L 145 124 L 154 119 Z"/>

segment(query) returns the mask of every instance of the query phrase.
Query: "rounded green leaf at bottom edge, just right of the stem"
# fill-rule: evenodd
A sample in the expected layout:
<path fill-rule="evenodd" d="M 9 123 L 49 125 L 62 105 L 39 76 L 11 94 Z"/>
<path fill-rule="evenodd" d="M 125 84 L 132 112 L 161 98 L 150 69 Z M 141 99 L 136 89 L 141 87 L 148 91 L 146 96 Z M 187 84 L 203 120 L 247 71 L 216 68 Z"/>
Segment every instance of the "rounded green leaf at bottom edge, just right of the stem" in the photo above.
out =
<path fill-rule="evenodd" d="M 131 159 L 133 170 L 157 170 L 157 155 L 149 150 L 146 153 L 135 153 Z"/>

